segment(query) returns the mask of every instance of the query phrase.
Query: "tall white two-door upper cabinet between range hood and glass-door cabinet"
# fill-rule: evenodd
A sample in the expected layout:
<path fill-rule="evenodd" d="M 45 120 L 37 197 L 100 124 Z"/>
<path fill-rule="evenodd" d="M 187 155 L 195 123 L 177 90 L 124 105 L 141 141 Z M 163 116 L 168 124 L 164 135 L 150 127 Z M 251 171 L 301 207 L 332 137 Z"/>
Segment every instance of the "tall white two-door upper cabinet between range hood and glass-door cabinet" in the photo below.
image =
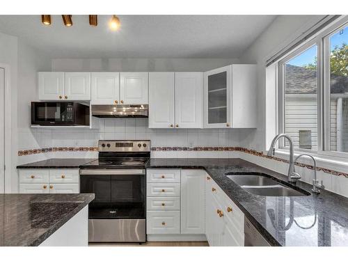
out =
<path fill-rule="evenodd" d="M 202 72 L 150 72 L 149 127 L 201 128 Z"/>

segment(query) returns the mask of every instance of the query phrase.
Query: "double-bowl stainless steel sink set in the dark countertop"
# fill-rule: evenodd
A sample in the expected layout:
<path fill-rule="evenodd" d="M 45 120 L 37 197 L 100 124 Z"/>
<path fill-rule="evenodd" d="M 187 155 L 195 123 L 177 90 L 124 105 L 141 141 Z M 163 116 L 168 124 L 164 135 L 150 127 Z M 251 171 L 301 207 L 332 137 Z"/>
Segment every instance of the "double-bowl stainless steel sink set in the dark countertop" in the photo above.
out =
<path fill-rule="evenodd" d="M 302 189 L 296 190 L 267 177 L 265 174 L 226 173 L 226 176 L 242 189 L 260 196 L 308 196 L 310 193 Z"/>

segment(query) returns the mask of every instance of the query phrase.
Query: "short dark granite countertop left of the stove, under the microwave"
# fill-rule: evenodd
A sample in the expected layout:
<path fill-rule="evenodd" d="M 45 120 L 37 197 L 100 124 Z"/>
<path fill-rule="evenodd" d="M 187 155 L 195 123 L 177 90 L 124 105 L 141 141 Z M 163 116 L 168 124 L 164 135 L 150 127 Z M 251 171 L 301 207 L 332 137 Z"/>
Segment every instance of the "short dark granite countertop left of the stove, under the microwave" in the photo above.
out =
<path fill-rule="evenodd" d="M 17 166 L 17 168 L 79 168 L 95 159 L 45 159 L 29 164 Z"/>

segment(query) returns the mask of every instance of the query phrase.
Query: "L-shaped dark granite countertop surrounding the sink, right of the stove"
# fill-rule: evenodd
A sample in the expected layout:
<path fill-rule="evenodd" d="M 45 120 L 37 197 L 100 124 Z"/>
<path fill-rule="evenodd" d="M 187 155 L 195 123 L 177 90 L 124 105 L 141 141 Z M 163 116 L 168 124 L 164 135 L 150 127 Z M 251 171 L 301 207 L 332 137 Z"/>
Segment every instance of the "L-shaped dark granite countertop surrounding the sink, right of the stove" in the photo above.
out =
<path fill-rule="evenodd" d="M 329 191 L 315 195 L 312 186 L 296 186 L 310 196 L 258 196 L 225 173 L 261 172 L 287 182 L 287 176 L 243 159 L 151 159 L 148 168 L 204 168 L 216 184 L 274 246 L 348 246 L 348 198 Z"/>

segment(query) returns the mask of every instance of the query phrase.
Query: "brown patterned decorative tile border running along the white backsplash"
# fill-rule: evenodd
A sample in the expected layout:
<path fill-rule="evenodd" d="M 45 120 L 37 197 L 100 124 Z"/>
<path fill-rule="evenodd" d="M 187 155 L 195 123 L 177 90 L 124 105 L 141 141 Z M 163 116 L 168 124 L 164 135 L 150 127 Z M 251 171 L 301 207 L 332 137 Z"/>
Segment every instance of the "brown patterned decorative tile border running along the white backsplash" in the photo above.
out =
<path fill-rule="evenodd" d="M 40 154 L 40 153 L 46 153 L 46 152 L 97 152 L 98 148 L 97 147 L 52 147 L 52 148 L 40 148 L 40 149 L 33 149 L 33 150 L 19 150 L 18 151 L 18 156 L 26 156 L 26 155 L 33 155 L 33 154 Z M 244 152 L 248 153 L 250 155 L 258 156 L 258 157 L 263 157 L 267 159 L 273 159 L 275 161 L 281 161 L 284 163 L 289 163 L 289 160 L 287 159 L 281 159 L 278 157 L 269 157 L 267 155 L 264 155 L 263 152 L 258 152 L 256 150 L 249 150 L 247 148 L 242 148 L 242 147 L 151 147 L 151 151 L 209 151 L 209 152 L 214 152 L 214 151 L 239 151 L 239 152 Z M 308 168 L 313 170 L 314 166 L 308 165 L 308 164 L 302 164 L 296 162 L 296 166 L 300 166 L 303 168 Z M 348 177 L 348 173 L 343 173 L 339 171 L 333 171 L 329 168 L 322 168 L 322 167 L 317 167 L 317 171 L 323 171 L 324 173 L 328 173 L 331 175 L 335 176 L 344 176 Z"/>

